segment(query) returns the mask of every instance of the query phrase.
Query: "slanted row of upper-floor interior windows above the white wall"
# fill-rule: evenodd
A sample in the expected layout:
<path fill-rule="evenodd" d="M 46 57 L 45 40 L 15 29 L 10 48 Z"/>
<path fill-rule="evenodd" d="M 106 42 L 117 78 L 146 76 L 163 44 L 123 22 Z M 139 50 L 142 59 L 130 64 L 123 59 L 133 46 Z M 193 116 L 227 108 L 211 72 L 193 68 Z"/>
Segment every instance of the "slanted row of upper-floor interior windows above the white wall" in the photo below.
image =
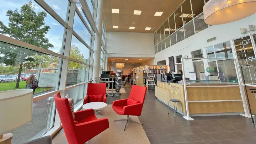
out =
<path fill-rule="evenodd" d="M 155 46 L 165 38 L 165 46 L 167 48 L 167 46 L 169 46 L 169 41 L 167 41 L 166 44 L 166 38 L 169 37 L 169 34 L 172 46 L 177 42 L 208 28 L 208 25 L 204 22 L 203 6 L 204 0 L 185 0 L 154 33 Z M 169 31 L 167 31 L 168 20 Z M 164 38 L 162 36 L 163 33 L 165 33 Z M 159 46 L 158 52 L 160 52 Z"/>

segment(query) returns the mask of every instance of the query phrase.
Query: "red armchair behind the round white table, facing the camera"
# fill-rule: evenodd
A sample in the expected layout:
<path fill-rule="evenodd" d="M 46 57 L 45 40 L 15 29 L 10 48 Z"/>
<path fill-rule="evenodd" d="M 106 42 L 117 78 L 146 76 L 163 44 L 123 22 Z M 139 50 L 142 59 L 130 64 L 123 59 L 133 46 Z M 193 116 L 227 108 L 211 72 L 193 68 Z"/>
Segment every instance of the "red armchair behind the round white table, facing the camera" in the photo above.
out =
<path fill-rule="evenodd" d="M 107 97 L 106 97 L 106 89 L 107 88 L 106 87 L 107 87 L 106 83 L 100 83 L 100 84 L 88 83 L 87 93 L 86 93 L 86 96 L 84 99 L 84 104 L 89 103 L 89 102 L 105 102 L 105 103 L 107 103 Z M 100 113 L 100 111 L 103 111 L 103 110 L 96 110 L 97 113 L 104 116 L 102 113 Z"/>

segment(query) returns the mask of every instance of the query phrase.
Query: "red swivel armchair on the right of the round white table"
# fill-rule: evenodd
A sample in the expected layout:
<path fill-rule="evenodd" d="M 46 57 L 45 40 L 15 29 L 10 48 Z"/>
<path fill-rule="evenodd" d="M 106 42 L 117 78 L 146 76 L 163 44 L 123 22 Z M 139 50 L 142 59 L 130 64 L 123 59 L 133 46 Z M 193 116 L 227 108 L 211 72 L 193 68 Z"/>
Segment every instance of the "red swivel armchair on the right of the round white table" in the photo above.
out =
<path fill-rule="evenodd" d="M 146 89 L 147 89 L 146 87 L 133 85 L 129 98 L 113 101 L 113 104 L 112 104 L 113 110 L 117 114 L 127 116 L 126 119 L 119 119 L 119 120 L 115 120 L 114 122 L 126 121 L 126 126 L 128 122 L 139 123 L 130 119 L 131 117 L 129 116 L 141 115 L 142 107 L 143 107 L 143 103 L 146 95 Z M 139 124 L 142 124 L 142 123 L 139 123 Z M 124 127 L 124 130 L 126 129 L 126 126 Z"/>

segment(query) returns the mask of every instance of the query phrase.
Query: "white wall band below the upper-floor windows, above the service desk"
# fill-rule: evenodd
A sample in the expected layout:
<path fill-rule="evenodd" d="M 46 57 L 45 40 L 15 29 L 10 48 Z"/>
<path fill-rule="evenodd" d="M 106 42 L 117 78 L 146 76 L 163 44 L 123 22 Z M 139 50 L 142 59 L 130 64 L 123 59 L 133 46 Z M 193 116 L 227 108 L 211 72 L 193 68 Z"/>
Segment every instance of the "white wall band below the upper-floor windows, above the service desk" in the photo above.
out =
<path fill-rule="evenodd" d="M 248 36 L 249 33 L 241 34 L 240 28 L 246 28 L 248 25 L 256 25 L 256 14 L 244 18 L 242 20 L 224 24 L 224 25 L 215 25 L 211 26 L 193 36 L 184 39 L 181 42 L 174 44 L 173 46 L 162 50 L 159 53 L 155 54 L 154 63 L 157 63 L 161 60 L 166 60 L 166 65 L 169 65 L 168 58 L 171 56 L 188 55 L 191 57 L 191 52 L 194 50 L 202 49 L 214 44 L 230 41 L 232 39 Z M 256 29 L 256 26 L 255 26 Z M 256 33 L 256 31 L 252 31 Z M 217 37 L 217 40 L 207 43 L 207 39 Z M 231 44 L 232 45 L 232 44 Z M 176 59 L 175 59 L 176 60 Z M 193 71 L 193 66 L 191 60 L 184 60 L 185 71 Z M 169 69 L 169 66 L 168 66 Z M 186 73 L 186 77 L 187 77 Z"/>

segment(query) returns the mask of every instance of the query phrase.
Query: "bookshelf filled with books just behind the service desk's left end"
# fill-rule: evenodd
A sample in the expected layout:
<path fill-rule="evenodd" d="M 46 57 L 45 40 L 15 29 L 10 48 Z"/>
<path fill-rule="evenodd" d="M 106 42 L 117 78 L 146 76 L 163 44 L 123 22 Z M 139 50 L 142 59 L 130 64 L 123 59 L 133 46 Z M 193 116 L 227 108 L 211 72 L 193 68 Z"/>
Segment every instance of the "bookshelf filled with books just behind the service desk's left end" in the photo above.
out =
<path fill-rule="evenodd" d="M 154 90 L 157 85 L 156 74 L 167 73 L 167 65 L 146 65 L 147 87 L 148 90 Z"/>

